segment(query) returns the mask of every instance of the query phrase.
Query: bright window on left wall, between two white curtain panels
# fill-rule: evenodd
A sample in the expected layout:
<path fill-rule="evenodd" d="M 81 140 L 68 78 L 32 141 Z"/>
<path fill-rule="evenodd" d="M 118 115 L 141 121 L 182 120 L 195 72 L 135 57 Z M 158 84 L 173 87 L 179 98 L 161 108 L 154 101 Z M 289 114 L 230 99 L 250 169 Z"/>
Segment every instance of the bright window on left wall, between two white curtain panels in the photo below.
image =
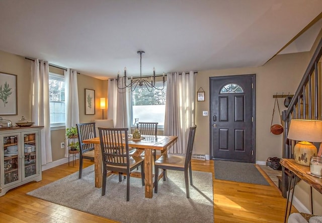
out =
<path fill-rule="evenodd" d="M 50 127 L 65 125 L 65 80 L 62 75 L 49 73 Z"/>

